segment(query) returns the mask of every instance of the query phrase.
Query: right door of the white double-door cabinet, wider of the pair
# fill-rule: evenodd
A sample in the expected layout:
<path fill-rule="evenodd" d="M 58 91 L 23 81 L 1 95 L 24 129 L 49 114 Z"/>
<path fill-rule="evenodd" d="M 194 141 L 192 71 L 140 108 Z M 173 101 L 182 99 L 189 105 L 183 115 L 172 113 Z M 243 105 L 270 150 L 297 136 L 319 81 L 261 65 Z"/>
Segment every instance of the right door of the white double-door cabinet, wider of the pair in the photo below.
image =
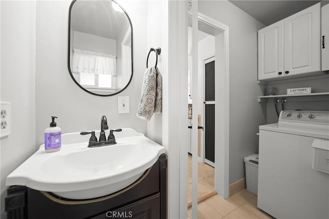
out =
<path fill-rule="evenodd" d="M 320 4 L 284 19 L 284 74 L 320 71 Z"/>

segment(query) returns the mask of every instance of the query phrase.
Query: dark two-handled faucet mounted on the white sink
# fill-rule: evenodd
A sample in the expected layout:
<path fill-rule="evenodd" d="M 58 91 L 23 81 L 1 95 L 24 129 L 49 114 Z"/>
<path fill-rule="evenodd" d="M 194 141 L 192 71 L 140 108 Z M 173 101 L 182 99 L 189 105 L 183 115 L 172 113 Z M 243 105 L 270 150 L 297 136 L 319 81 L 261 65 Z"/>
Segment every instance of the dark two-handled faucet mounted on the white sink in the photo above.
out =
<path fill-rule="evenodd" d="M 115 145 L 117 142 L 115 141 L 115 136 L 113 132 L 120 132 L 122 129 L 111 129 L 109 130 L 109 135 L 106 141 L 105 130 L 108 129 L 106 116 L 103 115 L 101 118 L 101 132 L 99 136 L 99 141 L 97 142 L 97 137 L 95 136 L 95 131 L 91 132 L 80 132 L 81 135 L 92 134 L 89 138 L 88 148 L 95 148 L 107 145 Z"/>

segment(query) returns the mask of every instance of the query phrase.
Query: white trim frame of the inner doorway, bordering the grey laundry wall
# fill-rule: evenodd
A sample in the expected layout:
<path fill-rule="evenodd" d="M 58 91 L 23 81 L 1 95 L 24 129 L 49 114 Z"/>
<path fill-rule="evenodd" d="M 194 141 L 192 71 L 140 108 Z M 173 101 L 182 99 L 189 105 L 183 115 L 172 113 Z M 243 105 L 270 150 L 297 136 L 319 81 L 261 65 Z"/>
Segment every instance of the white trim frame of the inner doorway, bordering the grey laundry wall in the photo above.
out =
<path fill-rule="evenodd" d="M 198 12 L 198 21 L 222 31 L 216 35 L 215 44 L 215 191 L 223 198 L 229 197 L 229 27 Z M 223 103 L 223 104 L 219 104 Z M 223 177 L 224 176 L 224 177 Z"/>

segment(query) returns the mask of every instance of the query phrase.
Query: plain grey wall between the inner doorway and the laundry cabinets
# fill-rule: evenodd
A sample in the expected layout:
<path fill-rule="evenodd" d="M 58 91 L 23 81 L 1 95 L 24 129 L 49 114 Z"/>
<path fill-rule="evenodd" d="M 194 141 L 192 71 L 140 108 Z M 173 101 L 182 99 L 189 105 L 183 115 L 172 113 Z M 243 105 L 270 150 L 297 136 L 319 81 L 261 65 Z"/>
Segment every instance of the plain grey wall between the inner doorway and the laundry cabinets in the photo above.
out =
<path fill-rule="evenodd" d="M 243 157 L 258 150 L 258 127 L 265 123 L 257 96 L 257 31 L 263 24 L 227 1 L 199 1 L 199 12 L 229 26 L 230 183 L 244 177 Z"/>

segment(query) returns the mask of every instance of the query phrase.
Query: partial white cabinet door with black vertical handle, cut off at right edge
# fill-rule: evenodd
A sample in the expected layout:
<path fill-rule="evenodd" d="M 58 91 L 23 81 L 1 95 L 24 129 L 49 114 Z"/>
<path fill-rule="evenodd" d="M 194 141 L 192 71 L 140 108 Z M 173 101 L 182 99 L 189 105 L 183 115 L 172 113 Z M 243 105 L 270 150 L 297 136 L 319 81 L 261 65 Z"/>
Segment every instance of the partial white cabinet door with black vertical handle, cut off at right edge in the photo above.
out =
<path fill-rule="evenodd" d="M 321 8 L 321 70 L 329 70 L 329 4 Z"/>

